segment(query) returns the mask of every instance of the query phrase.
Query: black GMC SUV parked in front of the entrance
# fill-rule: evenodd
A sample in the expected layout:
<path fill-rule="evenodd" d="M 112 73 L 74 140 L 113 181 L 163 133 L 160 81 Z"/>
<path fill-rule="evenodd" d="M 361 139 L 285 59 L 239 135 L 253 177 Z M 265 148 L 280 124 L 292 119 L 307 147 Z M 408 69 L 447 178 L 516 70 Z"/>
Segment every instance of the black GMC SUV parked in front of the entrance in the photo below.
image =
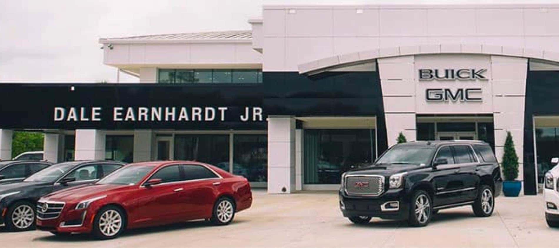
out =
<path fill-rule="evenodd" d="M 471 205 L 491 216 L 503 187 L 499 163 L 482 141 L 417 141 L 398 144 L 374 164 L 342 175 L 339 204 L 344 217 L 372 217 L 426 226 L 439 209 Z"/>

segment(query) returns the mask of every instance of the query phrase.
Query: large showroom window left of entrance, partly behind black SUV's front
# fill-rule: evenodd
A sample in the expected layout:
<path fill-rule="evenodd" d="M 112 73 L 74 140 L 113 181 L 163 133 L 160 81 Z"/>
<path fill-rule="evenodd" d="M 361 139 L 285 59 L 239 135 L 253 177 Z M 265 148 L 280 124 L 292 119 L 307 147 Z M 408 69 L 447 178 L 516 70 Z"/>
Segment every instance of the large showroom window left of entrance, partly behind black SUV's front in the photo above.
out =
<path fill-rule="evenodd" d="M 375 160 L 374 129 L 306 129 L 305 184 L 339 184 L 347 170 Z"/>

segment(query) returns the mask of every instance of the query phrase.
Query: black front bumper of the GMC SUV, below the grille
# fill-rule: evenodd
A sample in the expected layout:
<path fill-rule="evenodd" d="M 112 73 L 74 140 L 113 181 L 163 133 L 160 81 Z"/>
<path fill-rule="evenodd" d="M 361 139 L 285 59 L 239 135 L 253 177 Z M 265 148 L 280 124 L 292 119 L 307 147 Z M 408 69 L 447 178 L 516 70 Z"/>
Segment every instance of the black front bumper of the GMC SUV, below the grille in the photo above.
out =
<path fill-rule="evenodd" d="M 399 207 L 386 208 L 386 204 L 392 202 L 397 202 Z M 378 197 L 352 197 L 340 189 L 339 205 L 344 217 L 371 216 L 405 220 L 409 216 L 409 202 L 405 197 L 404 189 L 390 189 Z"/>

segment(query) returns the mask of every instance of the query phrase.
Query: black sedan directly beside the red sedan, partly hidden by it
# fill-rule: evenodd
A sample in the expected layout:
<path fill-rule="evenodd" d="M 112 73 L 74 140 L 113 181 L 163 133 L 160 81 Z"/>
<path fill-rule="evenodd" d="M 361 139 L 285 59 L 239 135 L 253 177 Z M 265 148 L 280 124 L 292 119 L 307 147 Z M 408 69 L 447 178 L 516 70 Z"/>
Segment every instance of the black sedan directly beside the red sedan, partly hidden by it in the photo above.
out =
<path fill-rule="evenodd" d="M 11 231 L 30 230 L 35 227 L 39 198 L 60 189 L 97 182 L 122 166 L 120 162 L 102 160 L 64 162 L 51 165 L 23 182 L 0 184 L 0 225 Z"/>

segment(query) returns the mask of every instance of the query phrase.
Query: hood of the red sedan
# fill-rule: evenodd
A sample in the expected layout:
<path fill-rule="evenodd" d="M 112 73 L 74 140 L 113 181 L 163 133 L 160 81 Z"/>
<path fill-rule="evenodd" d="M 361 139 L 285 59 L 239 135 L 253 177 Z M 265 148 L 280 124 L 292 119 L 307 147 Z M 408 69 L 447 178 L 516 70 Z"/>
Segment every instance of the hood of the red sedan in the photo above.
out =
<path fill-rule="evenodd" d="M 121 189 L 129 188 L 129 185 L 118 185 L 118 184 L 89 184 L 80 185 L 77 187 L 72 187 L 58 192 L 54 192 L 45 195 L 42 200 L 45 201 L 55 201 L 55 202 L 66 202 L 66 203 L 78 203 L 80 201 L 98 197 L 100 195 L 110 195 L 118 194 Z"/>

